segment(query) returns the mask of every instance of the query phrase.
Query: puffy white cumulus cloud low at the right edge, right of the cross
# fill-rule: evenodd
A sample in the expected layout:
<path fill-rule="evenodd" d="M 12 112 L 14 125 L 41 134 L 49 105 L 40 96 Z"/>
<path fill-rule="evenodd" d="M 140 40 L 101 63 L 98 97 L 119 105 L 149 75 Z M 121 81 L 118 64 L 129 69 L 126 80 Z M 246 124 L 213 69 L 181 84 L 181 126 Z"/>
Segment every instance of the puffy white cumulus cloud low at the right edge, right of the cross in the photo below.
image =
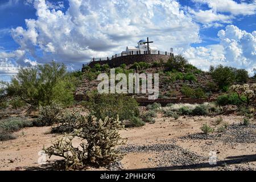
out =
<path fill-rule="evenodd" d="M 192 64 L 204 70 L 209 65 L 228 65 L 246 69 L 250 74 L 256 68 L 256 34 L 229 25 L 218 32 L 220 44 L 189 48 L 183 52 Z"/>

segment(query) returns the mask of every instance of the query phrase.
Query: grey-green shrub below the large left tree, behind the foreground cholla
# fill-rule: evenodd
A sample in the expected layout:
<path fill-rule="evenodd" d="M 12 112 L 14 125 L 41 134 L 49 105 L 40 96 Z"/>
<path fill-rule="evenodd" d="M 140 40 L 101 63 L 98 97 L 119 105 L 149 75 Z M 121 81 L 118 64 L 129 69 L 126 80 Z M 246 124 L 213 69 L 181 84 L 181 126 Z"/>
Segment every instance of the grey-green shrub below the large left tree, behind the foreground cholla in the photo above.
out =
<path fill-rule="evenodd" d="M 39 106 L 38 110 L 39 118 L 33 121 L 35 126 L 52 126 L 59 123 L 63 113 L 63 107 L 55 102 L 48 106 Z"/>

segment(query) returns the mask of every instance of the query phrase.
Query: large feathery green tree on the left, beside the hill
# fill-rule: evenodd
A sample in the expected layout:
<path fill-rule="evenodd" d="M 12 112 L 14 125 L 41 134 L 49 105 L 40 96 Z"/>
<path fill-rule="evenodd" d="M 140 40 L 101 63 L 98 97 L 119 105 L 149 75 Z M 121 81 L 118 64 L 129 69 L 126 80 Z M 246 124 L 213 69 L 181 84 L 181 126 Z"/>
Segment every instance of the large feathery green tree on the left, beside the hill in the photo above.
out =
<path fill-rule="evenodd" d="M 17 96 L 35 109 L 53 101 L 71 104 L 75 82 L 64 64 L 52 61 L 36 67 L 20 68 L 10 83 L 5 83 L 9 96 Z"/>

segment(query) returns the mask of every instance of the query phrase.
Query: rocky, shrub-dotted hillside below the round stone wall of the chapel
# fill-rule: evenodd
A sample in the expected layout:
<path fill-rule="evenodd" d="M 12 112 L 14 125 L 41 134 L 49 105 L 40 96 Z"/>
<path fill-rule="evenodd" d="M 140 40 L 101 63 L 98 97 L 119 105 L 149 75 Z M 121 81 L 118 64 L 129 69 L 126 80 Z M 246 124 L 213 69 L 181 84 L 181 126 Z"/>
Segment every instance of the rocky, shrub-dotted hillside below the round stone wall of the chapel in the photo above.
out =
<path fill-rule="evenodd" d="M 221 66 L 220 66 L 221 67 Z M 254 83 L 255 78 L 249 78 L 248 73 L 243 69 L 221 67 L 214 72 L 205 72 L 189 64 L 182 56 L 174 56 L 163 61 L 158 60 L 151 63 L 138 61 L 134 64 L 121 64 L 115 68 L 115 73 L 159 73 L 159 98 L 216 98 L 222 93 L 228 91 L 227 86 L 232 84 Z M 218 68 L 218 67 L 217 67 Z M 233 80 L 230 80 L 224 85 L 219 85 L 218 81 L 214 79 L 213 74 L 217 72 L 225 72 L 225 69 L 230 69 L 234 73 Z M 221 70 L 223 69 L 223 71 Z M 93 67 L 84 67 L 84 75 L 81 79 L 81 85 L 77 87 L 76 94 L 87 94 L 97 89 L 100 81 L 97 81 L 97 75 L 100 73 L 110 72 L 108 64 L 93 64 Z M 232 73 L 226 73 L 226 77 L 230 77 Z M 225 77 L 225 75 L 223 75 Z M 224 80 L 229 80 L 225 79 Z M 137 98 L 147 98 L 147 94 L 135 94 Z"/>

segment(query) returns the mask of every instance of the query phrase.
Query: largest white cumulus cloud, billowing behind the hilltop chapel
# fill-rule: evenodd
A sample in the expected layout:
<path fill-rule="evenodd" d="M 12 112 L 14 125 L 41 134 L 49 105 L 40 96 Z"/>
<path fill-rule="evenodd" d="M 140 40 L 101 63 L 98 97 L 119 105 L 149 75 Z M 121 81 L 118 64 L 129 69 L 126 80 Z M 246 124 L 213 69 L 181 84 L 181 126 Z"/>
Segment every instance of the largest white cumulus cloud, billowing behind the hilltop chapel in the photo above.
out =
<path fill-rule="evenodd" d="M 176 0 L 69 0 L 65 12 L 45 0 L 27 2 L 34 2 L 38 18 L 27 19 L 27 27 L 14 28 L 12 35 L 38 63 L 85 63 L 121 52 L 146 36 L 163 51 L 200 42 L 199 25 Z"/>

